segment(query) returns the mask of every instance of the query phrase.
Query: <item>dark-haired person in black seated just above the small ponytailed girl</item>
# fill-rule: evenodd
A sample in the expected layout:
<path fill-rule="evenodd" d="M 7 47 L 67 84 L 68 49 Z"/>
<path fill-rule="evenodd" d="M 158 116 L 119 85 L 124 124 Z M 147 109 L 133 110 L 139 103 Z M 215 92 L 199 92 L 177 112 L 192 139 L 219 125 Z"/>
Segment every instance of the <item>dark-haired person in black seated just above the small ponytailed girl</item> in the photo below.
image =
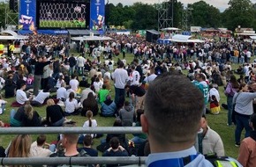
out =
<path fill-rule="evenodd" d="M 99 107 L 98 103 L 92 92 L 89 92 L 88 97 L 83 101 L 82 116 L 87 115 L 87 111 L 90 110 L 94 113 L 94 116 L 98 114 Z"/>

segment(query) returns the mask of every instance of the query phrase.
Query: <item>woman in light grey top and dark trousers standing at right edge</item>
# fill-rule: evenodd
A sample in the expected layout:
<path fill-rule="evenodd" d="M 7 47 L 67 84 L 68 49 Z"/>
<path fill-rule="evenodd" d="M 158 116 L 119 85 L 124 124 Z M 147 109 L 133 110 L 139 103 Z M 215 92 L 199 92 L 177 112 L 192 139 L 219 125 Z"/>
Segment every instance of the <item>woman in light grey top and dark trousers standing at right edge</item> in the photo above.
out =
<path fill-rule="evenodd" d="M 252 91 L 256 91 L 256 84 L 250 85 Z M 241 134 L 245 128 L 245 137 L 249 137 L 252 128 L 249 126 L 250 116 L 253 113 L 252 101 L 256 98 L 256 92 L 249 92 L 247 84 L 240 84 L 238 91 L 233 98 L 235 120 L 237 122 L 235 130 L 235 146 L 240 146 Z M 236 99 L 236 101 L 235 101 Z"/>

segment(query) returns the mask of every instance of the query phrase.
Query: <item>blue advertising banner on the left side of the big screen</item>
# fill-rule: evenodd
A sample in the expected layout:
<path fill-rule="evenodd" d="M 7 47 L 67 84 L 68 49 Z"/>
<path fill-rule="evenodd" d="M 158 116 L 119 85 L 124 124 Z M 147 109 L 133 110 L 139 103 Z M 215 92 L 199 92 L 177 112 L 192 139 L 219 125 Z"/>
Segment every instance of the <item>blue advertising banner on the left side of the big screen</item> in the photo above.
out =
<path fill-rule="evenodd" d="M 19 29 L 35 30 L 36 23 L 36 1 L 19 0 Z"/>

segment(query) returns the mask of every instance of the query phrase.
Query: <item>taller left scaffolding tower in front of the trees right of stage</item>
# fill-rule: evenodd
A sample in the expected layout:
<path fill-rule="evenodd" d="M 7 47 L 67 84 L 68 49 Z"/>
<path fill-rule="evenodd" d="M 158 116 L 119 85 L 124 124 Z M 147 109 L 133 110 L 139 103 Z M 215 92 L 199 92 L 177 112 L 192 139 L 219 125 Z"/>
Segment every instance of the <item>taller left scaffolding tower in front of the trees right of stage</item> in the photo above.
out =
<path fill-rule="evenodd" d="M 169 3 L 171 1 L 171 4 Z M 158 31 L 162 28 L 173 27 L 173 1 L 174 0 L 159 0 L 158 1 Z M 171 7 L 171 16 L 169 9 Z"/>

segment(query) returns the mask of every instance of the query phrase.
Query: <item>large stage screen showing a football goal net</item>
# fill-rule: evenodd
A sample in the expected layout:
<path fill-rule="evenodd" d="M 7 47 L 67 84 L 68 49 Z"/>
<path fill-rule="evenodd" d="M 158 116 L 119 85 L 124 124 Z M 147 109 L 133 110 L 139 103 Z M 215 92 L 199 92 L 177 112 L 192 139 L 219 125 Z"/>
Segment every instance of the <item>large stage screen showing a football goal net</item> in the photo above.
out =
<path fill-rule="evenodd" d="M 39 1 L 39 28 L 88 28 L 89 4 Z"/>

